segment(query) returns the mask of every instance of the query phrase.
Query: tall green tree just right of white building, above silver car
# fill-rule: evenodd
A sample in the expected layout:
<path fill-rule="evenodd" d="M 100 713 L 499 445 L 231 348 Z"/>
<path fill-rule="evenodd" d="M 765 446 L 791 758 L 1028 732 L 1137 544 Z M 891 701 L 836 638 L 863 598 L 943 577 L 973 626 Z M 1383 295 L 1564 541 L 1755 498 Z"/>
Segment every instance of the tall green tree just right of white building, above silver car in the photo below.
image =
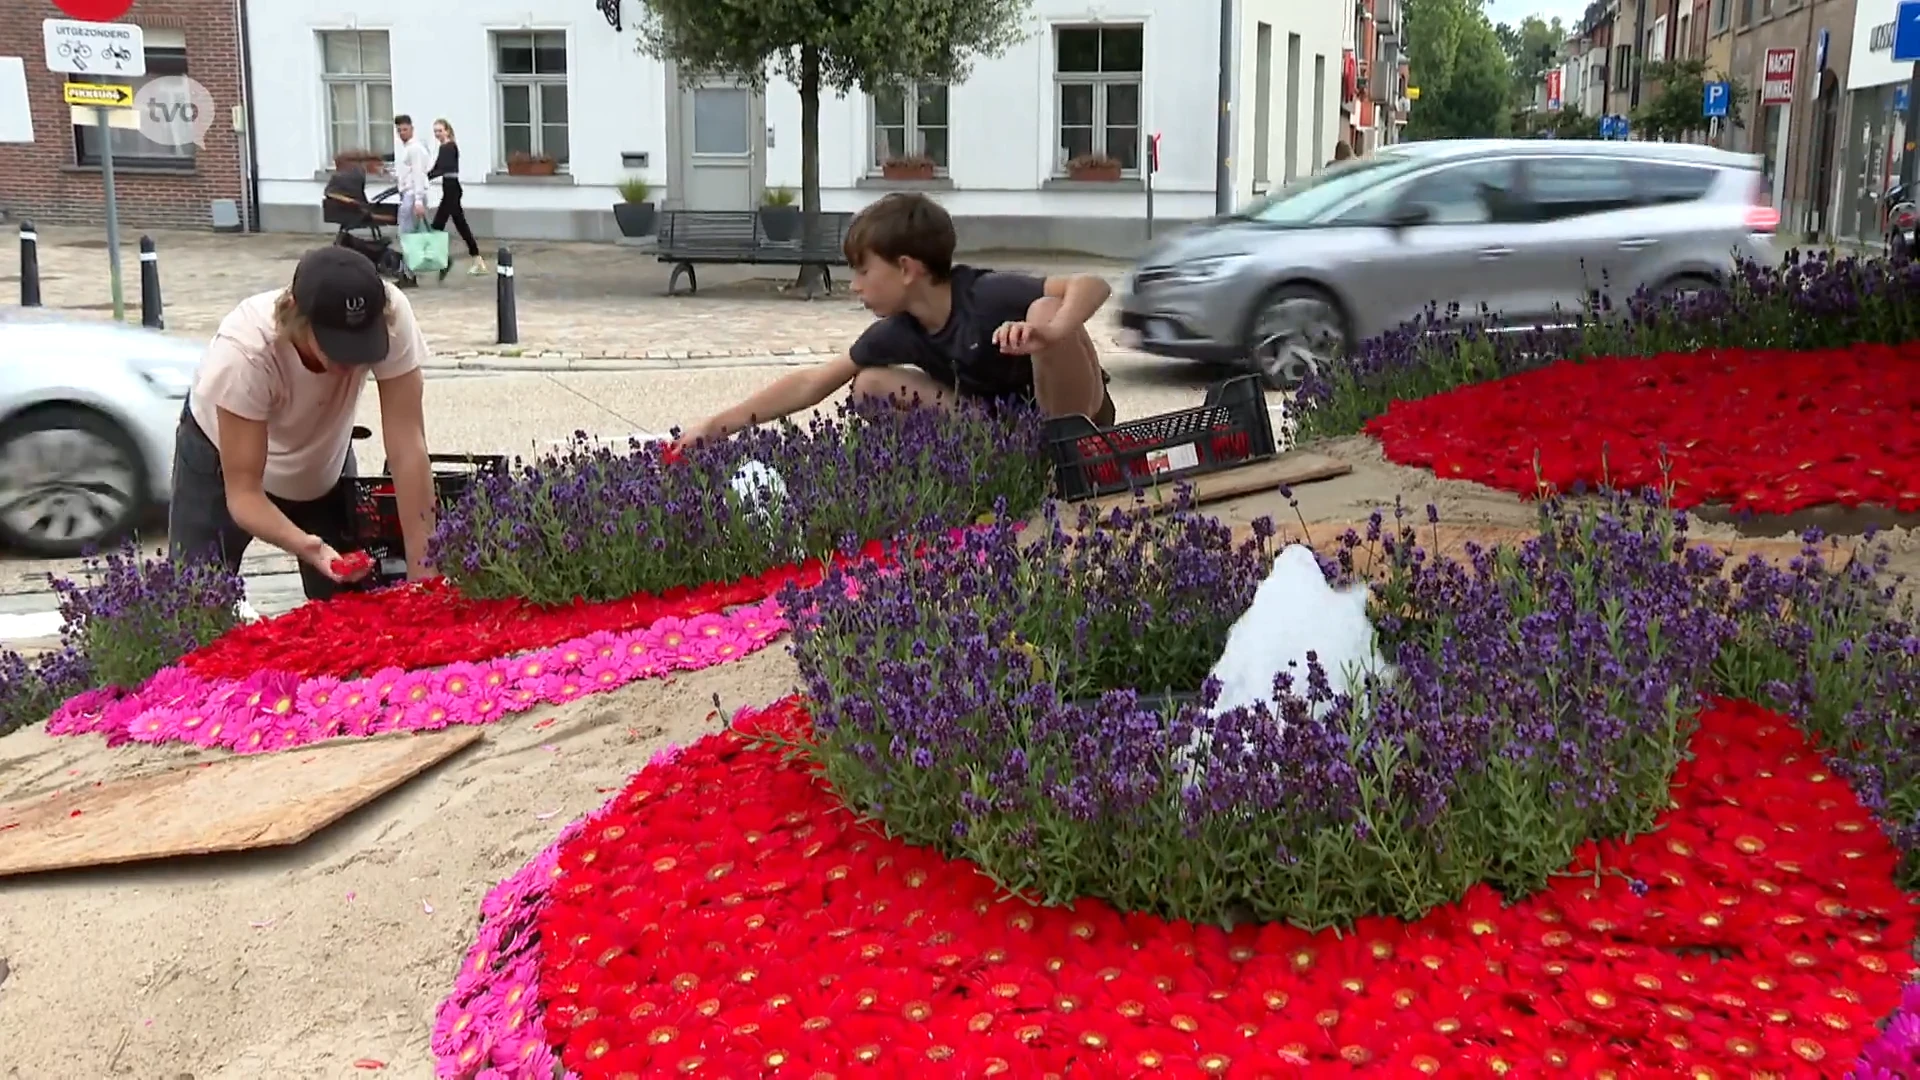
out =
<path fill-rule="evenodd" d="M 1488 138 L 1509 131 L 1513 77 L 1478 0 L 1407 0 L 1407 67 L 1421 88 L 1407 115 L 1407 138 Z"/>

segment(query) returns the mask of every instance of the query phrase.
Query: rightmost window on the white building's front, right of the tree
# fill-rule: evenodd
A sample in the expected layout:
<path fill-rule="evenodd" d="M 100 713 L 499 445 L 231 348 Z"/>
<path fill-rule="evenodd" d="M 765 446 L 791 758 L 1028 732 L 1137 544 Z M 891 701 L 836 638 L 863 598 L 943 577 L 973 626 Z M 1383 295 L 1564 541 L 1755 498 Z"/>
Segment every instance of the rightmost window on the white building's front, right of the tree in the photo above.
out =
<path fill-rule="evenodd" d="M 1089 154 L 1140 167 L 1140 73 L 1146 35 L 1140 27 L 1066 27 L 1054 35 L 1054 167 Z"/>

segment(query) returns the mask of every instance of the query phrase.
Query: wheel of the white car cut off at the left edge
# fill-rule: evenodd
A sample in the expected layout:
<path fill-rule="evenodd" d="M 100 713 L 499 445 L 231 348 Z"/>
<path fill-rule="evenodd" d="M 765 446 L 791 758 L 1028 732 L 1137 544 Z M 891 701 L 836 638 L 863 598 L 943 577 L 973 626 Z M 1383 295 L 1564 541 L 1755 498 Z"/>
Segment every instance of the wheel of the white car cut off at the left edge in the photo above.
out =
<path fill-rule="evenodd" d="M 132 438 L 90 409 L 48 407 L 0 427 L 0 544 L 69 559 L 140 525 L 148 477 Z"/>

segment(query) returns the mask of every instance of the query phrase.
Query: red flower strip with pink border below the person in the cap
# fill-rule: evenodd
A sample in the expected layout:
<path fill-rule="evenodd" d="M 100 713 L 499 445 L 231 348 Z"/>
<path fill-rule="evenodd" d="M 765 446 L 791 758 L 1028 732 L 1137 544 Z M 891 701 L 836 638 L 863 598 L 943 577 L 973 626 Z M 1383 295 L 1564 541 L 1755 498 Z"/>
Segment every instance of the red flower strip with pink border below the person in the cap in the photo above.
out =
<path fill-rule="evenodd" d="M 881 544 L 860 559 L 885 561 Z M 783 586 L 824 565 L 603 603 L 467 600 L 442 582 L 348 594 L 236 626 L 132 692 L 61 703 L 50 734 L 238 753 L 486 724 L 745 657 L 785 632 Z"/>

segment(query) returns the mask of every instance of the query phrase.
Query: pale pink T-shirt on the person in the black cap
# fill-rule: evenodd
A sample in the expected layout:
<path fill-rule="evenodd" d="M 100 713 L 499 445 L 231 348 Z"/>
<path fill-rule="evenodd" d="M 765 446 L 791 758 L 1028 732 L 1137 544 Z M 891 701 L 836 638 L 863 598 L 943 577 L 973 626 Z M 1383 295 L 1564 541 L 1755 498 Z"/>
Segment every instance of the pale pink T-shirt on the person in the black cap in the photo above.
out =
<path fill-rule="evenodd" d="M 392 346 L 386 359 L 315 375 L 300 363 L 292 344 L 273 325 L 273 306 L 282 290 L 250 296 L 221 321 L 213 344 L 200 357 L 188 407 L 200 430 L 221 442 L 219 409 L 250 421 L 267 421 L 267 494 L 307 502 L 340 482 L 353 415 L 367 373 L 376 380 L 397 379 L 426 359 L 426 338 L 413 317 L 413 304 L 394 286 L 386 290 Z"/>

